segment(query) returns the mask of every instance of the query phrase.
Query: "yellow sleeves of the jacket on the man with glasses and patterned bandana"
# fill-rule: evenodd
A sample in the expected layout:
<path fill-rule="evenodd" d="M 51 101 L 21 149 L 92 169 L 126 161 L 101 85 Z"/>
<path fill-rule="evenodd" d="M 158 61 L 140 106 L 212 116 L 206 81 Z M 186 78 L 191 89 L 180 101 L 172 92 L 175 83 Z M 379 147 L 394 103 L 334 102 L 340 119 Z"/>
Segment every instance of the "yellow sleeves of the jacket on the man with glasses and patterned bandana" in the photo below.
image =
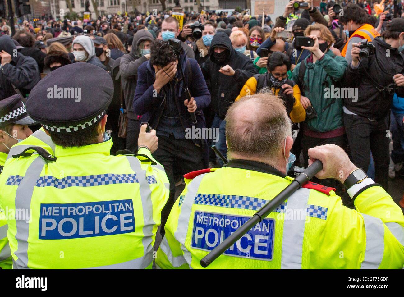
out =
<path fill-rule="evenodd" d="M 257 79 L 252 76 L 250 77 L 240 91 L 240 95 L 237 96 L 236 100 L 240 100 L 240 98 L 248 95 L 254 95 L 257 91 Z M 280 88 L 272 88 L 272 92 L 275 95 L 278 95 Z M 297 84 L 293 85 L 293 97 L 295 97 L 295 103 L 293 103 L 292 112 L 290 112 L 289 116 L 292 122 L 300 123 L 306 119 L 306 111 L 303 105 L 300 103 L 300 88 Z"/>

